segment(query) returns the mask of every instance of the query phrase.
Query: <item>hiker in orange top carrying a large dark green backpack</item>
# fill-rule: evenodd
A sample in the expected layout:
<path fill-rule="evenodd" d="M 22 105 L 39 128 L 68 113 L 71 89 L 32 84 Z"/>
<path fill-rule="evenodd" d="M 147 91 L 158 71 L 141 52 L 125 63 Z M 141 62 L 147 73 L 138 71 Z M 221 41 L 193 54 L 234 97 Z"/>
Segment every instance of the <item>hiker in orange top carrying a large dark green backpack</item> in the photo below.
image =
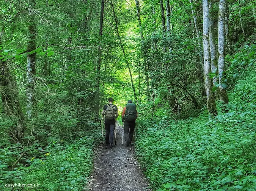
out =
<path fill-rule="evenodd" d="M 124 123 L 124 140 L 126 141 L 126 146 L 129 146 L 132 142 L 137 117 L 138 112 L 136 104 L 132 103 L 132 100 L 128 100 L 128 103 L 122 112 L 122 121 Z"/>

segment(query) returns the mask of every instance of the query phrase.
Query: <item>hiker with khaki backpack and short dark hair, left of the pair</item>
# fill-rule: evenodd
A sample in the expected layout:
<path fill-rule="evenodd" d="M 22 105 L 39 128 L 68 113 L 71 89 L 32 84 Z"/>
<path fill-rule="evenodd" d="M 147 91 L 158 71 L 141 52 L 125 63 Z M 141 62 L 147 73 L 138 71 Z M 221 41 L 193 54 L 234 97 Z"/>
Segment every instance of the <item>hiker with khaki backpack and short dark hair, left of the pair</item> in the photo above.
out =
<path fill-rule="evenodd" d="M 108 99 L 108 104 L 104 105 L 102 116 L 105 116 L 106 144 L 113 147 L 114 131 L 116 118 L 118 117 L 118 108 L 113 104 L 113 98 Z"/>

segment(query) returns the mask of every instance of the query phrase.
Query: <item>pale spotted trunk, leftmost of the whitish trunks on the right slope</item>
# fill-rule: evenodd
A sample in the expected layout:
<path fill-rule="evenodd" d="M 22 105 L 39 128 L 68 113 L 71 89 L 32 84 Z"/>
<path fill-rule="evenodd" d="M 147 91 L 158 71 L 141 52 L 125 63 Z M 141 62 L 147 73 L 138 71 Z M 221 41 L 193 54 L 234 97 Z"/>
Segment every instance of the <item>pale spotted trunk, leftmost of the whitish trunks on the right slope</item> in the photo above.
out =
<path fill-rule="evenodd" d="M 210 46 L 209 46 L 209 3 L 203 0 L 203 47 L 204 47 L 204 85 L 206 89 L 207 109 L 210 115 L 217 114 L 215 95 L 212 91 L 213 84 L 209 77 L 210 67 Z"/>

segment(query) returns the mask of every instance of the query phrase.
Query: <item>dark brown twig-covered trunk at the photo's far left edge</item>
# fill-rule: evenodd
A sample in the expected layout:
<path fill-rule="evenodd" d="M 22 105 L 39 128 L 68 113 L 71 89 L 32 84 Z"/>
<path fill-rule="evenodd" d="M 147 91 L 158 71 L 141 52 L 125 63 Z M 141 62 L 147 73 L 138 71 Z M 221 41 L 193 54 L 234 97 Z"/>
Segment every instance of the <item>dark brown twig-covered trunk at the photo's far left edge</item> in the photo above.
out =
<path fill-rule="evenodd" d="M 4 26 L 0 31 L 0 57 L 2 57 L 3 51 L 3 33 Z M 15 117 L 17 120 L 16 127 L 12 128 L 9 134 L 15 142 L 22 142 L 25 125 L 24 114 L 19 102 L 19 90 L 7 62 L 2 60 L 0 60 L 0 96 L 6 116 Z"/>

